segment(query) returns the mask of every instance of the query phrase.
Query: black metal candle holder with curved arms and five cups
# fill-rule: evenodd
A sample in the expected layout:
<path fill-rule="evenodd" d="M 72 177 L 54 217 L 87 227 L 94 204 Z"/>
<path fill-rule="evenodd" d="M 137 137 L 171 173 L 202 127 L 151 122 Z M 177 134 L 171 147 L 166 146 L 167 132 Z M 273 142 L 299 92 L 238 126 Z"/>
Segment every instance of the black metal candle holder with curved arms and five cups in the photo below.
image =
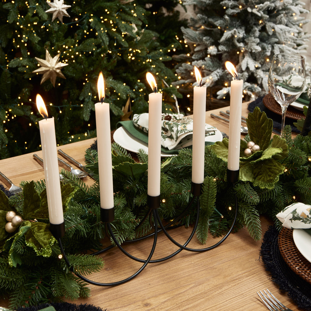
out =
<path fill-rule="evenodd" d="M 237 180 L 238 180 L 238 176 L 239 176 L 239 171 L 231 171 L 231 170 L 227 170 L 227 179 L 228 179 L 228 182 L 230 183 L 235 183 Z M 112 218 L 112 211 L 104 211 L 103 213 L 101 212 L 101 220 L 105 223 L 106 225 L 106 228 L 108 229 L 108 232 L 111 236 L 111 238 L 113 239 L 114 243 L 117 245 L 117 247 L 121 250 L 122 253 L 124 253 L 126 256 L 128 256 L 130 259 L 132 260 L 135 260 L 137 262 L 141 262 L 142 263 L 142 266 L 137 270 L 137 272 L 135 272 L 133 275 L 129 276 L 128 278 L 126 279 L 123 279 L 121 281 L 116 281 L 116 282 L 111 282 L 111 283 L 100 283 L 100 282 L 95 282 L 95 281 L 92 281 L 88 278 L 86 278 L 85 276 L 82 276 L 77 269 L 75 269 L 74 267 L 72 267 L 72 265 L 70 264 L 67 256 L 66 256 L 66 253 L 63 249 L 63 245 L 62 245 L 62 241 L 61 241 L 61 238 L 63 236 L 63 229 L 61 229 L 61 227 L 63 227 L 63 224 L 59 225 L 60 228 L 56 228 L 57 225 L 53 225 L 52 226 L 52 229 L 53 231 L 52 234 L 54 235 L 54 237 L 58 240 L 58 243 L 59 243 L 59 246 L 60 246 L 60 250 L 61 250 L 61 253 L 62 253 L 62 256 L 67 264 L 67 266 L 69 267 L 70 271 L 73 272 L 77 277 L 79 277 L 81 280 L 89 283 L 89 284 L 92 284 L 92 285 L 97 285 L 97 286 L 116 286 L 116 285 L 120 285 L 120 284 L 123 284 L 123 283 L 126 283 L 130 280 L 132 280 L 134 277 L 136 277 L 139 273 L 142 272 L 142 270 L 145 269 L 145 267 L 147 266 L 148 263 L 157 263 L 157 262 L 163 262 L 165 260 L 168 260 L 172 257 L 174 257 L 175 255 L 177 255 L 178 253 L 180 253 L 182 250 L 187 250 L 187 251 L 190 251 L 190 252 L 206 252 L 206 251 L 209 251 L 213 248 L 216 248 L 217 246 L 219 246 L 220 244 L 222 244 L 225 239 L 229 236 L 229 234 L 231 233 L 233 227 L 234 227 L 234 223 L 235 223 L 235 220 L 236 220 L 236 217 L 237 217 L 237 213 L 238 213 L 238 199 L 237 199 L 237 196 L 235 195 L 235 213 L 234 213 L 234 219 L 232 221 L 232 224 L 230 226 L 230 229 L 228 230 L 228 232 L 225 234 L 225 236 L 220 240 L 218 241 L 216 244 L 212 245 L 212 246 L 209 246 L 209 247 L 206 247 L 206 248 L 188 248 L 187 245 L 189 244 L 189 242 L 191 241 L 191 239 L 193 238 L 193 235 L 195 234 L 195 231 L 197 229 L 197 225 L 198 225 L 198 221 L 199 221 L 199 216 L 200 216 L 200 202 L 199 202 L 199 196 L 201 194 L 201 191 L 202 191 L 202 183 L 192 183 L 191 184 L 191 193 L 193 195 L 193 198 L 192 200 L 188 203 L 188 206 L 185 208 L 185 210 L 178 216 L 176 217 L 174 220 L 172 220 L 171 222 L 169 222 L 169 224 L 167 225 L 163 225 L 162 222 L 161 222 L 161 219 L 160 219 L 160 215 L 159 215 L 159 212 L 158 212 L 158 208 L 160 207 L 160 196 L 156 196 L 156 197 L 152 197 L 152 196 L 149 196 L 147 195 L 147 204 L 148 204 L 148 207 L 149 207 L 149 210 L 148 212 L 146 213 L 146 216 L 143 218 L 143 220 L 140 222 L 140 224 L 145 221 L 148 216 L 152 215 L 153 216 L 153 227 L 154 227 L 154 232 L 151 233 L 151 234 L 148 234 L 142 238 L 138 238 L 138 239 L 135 239 L 135 240 L 132 240 L 132 241 L 127 241 L 127 242 L 133 242 L 133 241 L 138 241 L 138 240 L 141 240 L 141 239 L 145 239 L 147 237 L 151 237 L 153 236 L 153 244 L 152 244 L 152 248 L 151 248 L 151 251 L 150 251 L 150 254 L 148 256 L 147 259 L 141 259 L 141 258 L 137 258 L 131 254 L 129 254 L 122 246 L 121 244 L 118 242 L 118 240 L 116 239 L 116 237 L 114 236 L 114 233 L 111 229 L 111 225 L 110 225 L 110 221 L 108 220 L 107 221 L 107 213 L 108 213 L 108 218 L 111 220 L 113 219 Z M 197 200 L 197 217 L 196 217 L 196 220 L 195 220 L 195 223 L 194 223 L 194 226 L 193 226 L 193 230 L 189 236 L 189 238 L 187 239 L 187 241 L 182 245 L 182 244 L 179 244 L 178 242 L 176 242 L 168 233 L 168 228 L 171 227 L 172 225 L 174 225 L 181 217 L 183 214 L 185 214 L 188 209 L 192 206 L 193 202 Z M 113 210 L 113 209 L 111 209 Z M 158 224 L 160 225 L 160 228 L 158 227 Z M 139 226 L 139 225 L 138 225 Z M 174 253 L 171 253 L 170 255 L 166 256 L 166 257 L 163 257 L 163 258 L 159 258 L 159 259 L 151 259 L 152 256 L 153 256 L 153 253 L 155 251 L 155 248 L 156 248 L 156 243 L 157 243 L 157 236 L 158 236 L 158 233 L 160 231 L 163 231 L 164 234 L 166 235 L 166 237 L 173 243 L 175 244 L 176 246 L 179 247 L 178 250 L 176 250 Z M 100 253 L 104 253 L 105 251 L 111 249 L 113 247 L 113 245 L 107 247 L 107 248 L 104 248 L 103 250 L 100 250 L 96 253 L 92 253 L 92 255 L 98 255 Z"/>

